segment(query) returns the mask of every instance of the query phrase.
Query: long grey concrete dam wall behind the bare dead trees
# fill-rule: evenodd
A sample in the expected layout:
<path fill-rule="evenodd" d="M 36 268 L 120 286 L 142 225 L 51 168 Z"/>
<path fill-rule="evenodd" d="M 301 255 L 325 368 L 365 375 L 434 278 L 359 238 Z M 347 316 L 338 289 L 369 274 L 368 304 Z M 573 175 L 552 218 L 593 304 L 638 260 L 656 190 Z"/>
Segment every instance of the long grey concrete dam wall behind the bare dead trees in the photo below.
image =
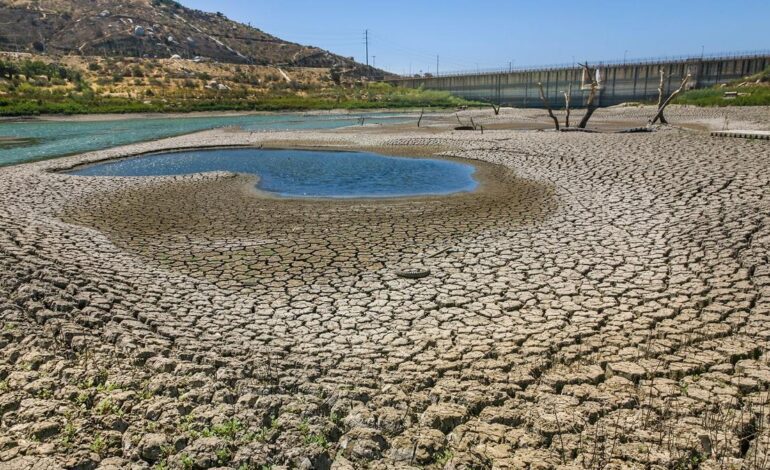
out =
<path fill-rule="evenodd" d="M 770 51 L 709 57 L 682 57 L 629 62 L 589 63 L 602 76 L 600 106 L 658 98 L 660 70 L 666 72 L 666 94 L 675 90 L 688 73 L 689 88 L 707 88 L 752 75 L 770 66 Z M 444 90 L 470 100 L 517 107 L 542 107 L 537 84 L 543 84 L 551 105 L 564 106 L 563 91 L 572 84 L 572 106 L 584 105 L 588 92 L 580 90 L 579 66 L 554 66 L 522 70 L 481 71 L 438 77 L 404 77 L 392 80 L 400 86 Z"/>

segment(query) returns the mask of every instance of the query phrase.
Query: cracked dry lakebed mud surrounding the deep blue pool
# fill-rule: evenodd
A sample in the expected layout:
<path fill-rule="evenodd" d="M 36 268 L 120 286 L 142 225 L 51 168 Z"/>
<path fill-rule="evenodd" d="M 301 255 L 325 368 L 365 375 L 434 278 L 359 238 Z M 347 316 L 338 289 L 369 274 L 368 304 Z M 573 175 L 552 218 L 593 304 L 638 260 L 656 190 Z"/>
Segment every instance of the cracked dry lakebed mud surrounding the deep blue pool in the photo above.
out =
<path fill-rule="evenodd" d="M 52 171 L 277 141 L 433 148 L 483 187 Z M 768 468 L 769 180 L 767 142 L 674 129 L 211 131 L 3 169 L 0 468 Z"/>

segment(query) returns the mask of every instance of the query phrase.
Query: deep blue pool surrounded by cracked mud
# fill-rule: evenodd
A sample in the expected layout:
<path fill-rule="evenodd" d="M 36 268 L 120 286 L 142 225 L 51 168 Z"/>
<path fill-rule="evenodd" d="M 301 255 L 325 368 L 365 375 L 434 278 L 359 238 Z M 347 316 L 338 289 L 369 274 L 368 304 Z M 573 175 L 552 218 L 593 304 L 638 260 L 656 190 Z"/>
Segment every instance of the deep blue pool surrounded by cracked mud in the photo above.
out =
<path fill-rule="evenodd" d="M 257 187 L 285 197 L 354 198 L 446 195 L 473 191 L 473 165 L 364 152 L 217 149 L 143 155 L 78 168 L 80 176 L 250 173 Z"/>

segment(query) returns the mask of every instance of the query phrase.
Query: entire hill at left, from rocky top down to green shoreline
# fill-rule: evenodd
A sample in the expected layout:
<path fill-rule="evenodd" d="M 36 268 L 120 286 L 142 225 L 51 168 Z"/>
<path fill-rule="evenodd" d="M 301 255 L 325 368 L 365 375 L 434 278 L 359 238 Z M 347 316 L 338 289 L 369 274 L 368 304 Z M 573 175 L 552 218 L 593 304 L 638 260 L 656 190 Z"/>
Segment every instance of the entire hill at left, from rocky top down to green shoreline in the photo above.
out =
<path fill-rule="evenodd" d="M 457 106 L 173 0 L 0 0 L 0 115 Z"/>

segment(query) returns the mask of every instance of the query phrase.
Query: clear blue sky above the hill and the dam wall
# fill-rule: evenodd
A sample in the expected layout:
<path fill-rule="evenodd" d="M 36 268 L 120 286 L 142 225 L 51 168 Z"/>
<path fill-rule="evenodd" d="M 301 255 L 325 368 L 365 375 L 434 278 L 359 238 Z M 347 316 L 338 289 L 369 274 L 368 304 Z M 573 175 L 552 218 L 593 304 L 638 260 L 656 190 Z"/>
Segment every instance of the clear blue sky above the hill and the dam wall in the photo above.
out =
<path fill-rule="evenodd" d="M 181 1 L 395 73 L 770 49 L 770 0 Z"/>

